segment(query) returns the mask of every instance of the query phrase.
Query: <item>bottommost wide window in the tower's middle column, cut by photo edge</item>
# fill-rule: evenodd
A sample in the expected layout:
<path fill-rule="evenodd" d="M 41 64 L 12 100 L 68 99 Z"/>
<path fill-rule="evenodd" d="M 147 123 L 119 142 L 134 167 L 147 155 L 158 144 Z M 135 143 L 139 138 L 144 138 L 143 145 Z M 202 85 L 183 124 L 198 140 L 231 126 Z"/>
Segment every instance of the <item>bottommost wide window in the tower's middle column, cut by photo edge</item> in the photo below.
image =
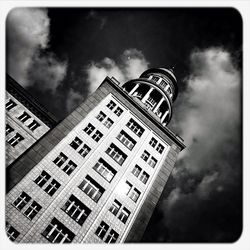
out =
<path fill-rule="evenodd" d="M 70 243 L 75 237 L 75 234 L 56 218 L 52 219 L 42 235 L 52 243 Z"/>

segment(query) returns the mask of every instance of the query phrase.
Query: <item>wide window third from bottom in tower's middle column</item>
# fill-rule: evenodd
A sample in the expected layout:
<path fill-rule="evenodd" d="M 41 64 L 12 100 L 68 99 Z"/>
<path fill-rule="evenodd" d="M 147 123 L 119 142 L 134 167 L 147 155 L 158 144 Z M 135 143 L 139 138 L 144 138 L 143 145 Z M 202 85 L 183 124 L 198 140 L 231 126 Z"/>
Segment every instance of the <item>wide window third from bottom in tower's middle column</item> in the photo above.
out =
<path fill-rule="evenodd" d="M 103 187 L 101 187 L 88 175 L 79 185 L 79 188 L 95 202 L 98 202 L 98 200 L 105 191 Z"/>

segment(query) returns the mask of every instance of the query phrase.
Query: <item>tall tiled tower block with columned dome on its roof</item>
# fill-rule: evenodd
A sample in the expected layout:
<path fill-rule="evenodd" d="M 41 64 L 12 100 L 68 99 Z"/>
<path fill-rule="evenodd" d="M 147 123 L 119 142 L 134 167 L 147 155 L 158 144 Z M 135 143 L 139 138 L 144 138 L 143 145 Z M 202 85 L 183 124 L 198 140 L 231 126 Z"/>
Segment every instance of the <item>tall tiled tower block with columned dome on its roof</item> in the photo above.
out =
<path fill-rule="evenodd" d="M 146 70 L 125 84 L 106 77 L 7 172 L 8 237 L 140 241 L 185 147 L 167 127 L 177 92 L 169 69 Z"/>

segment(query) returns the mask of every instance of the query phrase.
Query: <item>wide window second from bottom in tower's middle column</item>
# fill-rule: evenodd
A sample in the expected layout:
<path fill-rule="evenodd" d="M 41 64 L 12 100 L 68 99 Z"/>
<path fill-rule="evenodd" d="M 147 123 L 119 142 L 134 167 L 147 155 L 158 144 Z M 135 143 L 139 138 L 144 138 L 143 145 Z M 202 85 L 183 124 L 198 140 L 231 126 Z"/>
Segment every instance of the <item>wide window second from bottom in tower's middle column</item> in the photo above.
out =
<path fill-rule="evenodd" d="M 69 197 L 62 210 L 81 226 L 91 212 L 91 210 L 74 195 Z"/>

